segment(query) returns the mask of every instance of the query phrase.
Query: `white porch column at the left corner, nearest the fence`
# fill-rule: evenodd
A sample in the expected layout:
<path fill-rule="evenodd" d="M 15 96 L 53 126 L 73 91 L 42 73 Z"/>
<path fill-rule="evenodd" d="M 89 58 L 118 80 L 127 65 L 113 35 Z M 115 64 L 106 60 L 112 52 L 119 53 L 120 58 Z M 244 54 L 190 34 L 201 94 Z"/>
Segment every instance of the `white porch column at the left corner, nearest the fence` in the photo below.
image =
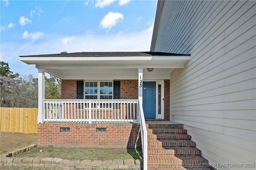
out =
<path fill-rule="evenodd" d="M 44 69 L 38 69 L 38 115 L 37 123 L 44 122 L 44 106 L 43 100 L 45 99 L 44 95 Z"/>

